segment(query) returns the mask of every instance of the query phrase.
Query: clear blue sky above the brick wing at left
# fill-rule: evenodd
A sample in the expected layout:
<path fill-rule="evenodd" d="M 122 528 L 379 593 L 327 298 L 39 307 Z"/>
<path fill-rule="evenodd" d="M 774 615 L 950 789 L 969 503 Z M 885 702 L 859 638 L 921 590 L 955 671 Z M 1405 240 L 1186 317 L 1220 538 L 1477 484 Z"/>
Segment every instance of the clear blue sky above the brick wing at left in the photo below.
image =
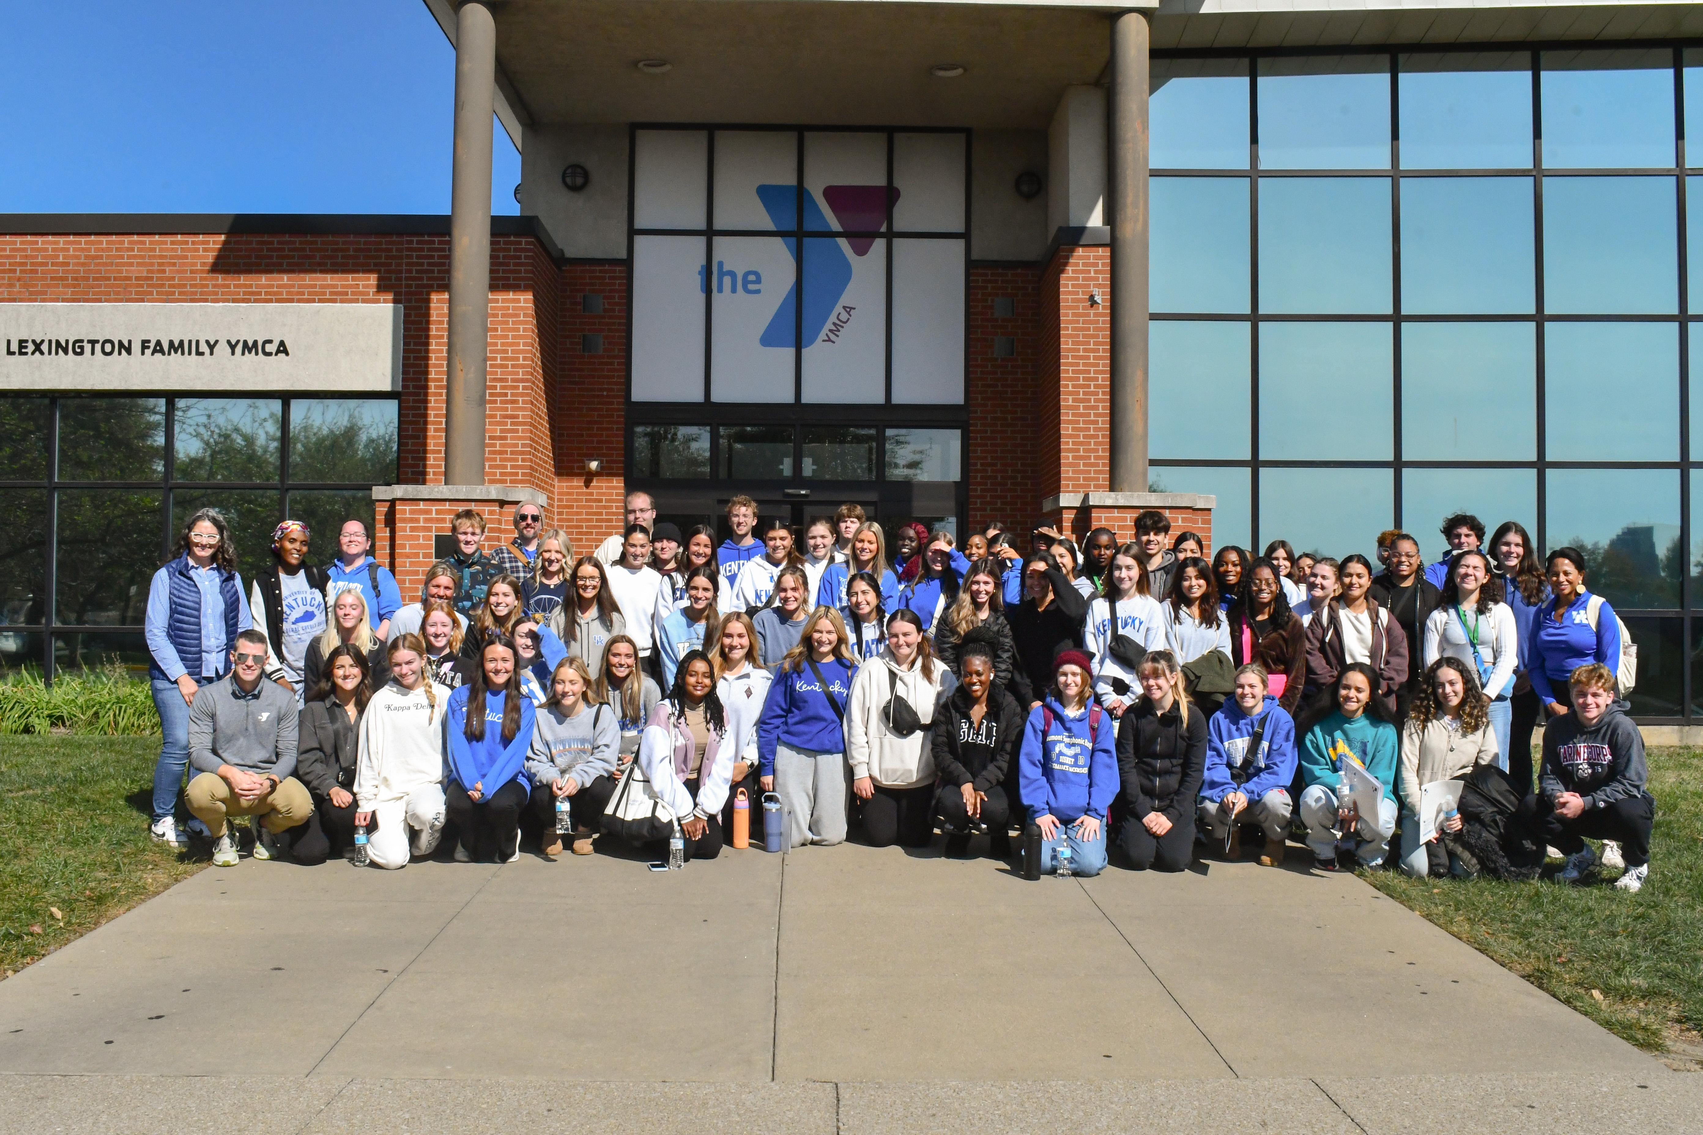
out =
<path fill-rule="evenodd" d="M 0 213 L 448 213 L 453 102 L 421 0 L 17 5 Z"/>

